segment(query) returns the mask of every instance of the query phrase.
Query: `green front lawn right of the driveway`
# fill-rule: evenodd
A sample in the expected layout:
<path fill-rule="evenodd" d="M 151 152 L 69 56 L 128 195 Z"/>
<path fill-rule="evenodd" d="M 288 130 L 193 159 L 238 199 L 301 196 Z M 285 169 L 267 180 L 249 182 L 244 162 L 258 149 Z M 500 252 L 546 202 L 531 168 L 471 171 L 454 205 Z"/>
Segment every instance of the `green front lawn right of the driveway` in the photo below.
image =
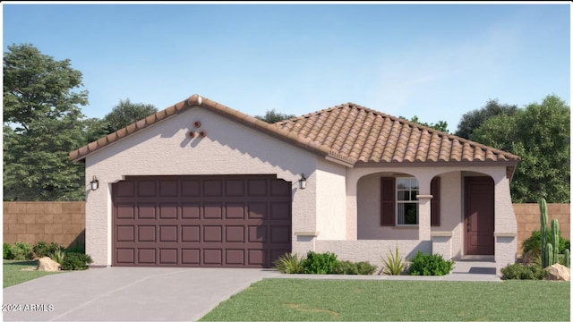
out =
<path fill-rule="evenodd" d="M 201 321 L 569 321 L 569 282 L 264 279 Z"/>

